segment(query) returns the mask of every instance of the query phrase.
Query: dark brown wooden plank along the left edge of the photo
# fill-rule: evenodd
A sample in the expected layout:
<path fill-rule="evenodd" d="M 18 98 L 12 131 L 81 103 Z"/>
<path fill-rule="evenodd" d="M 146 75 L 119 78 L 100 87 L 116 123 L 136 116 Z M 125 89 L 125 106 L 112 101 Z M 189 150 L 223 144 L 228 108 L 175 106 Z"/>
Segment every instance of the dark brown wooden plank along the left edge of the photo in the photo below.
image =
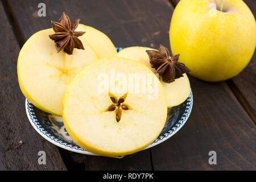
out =
<path fill-rule="evenodd" d="M 57 147 L 45 142 L 27 119 L 16 75 L 19 46 L 2 2 L 0 26 L 0 170 L 65 170 Z M 46 165 L 38 164 L 39 151 L 46 152 Z"/>

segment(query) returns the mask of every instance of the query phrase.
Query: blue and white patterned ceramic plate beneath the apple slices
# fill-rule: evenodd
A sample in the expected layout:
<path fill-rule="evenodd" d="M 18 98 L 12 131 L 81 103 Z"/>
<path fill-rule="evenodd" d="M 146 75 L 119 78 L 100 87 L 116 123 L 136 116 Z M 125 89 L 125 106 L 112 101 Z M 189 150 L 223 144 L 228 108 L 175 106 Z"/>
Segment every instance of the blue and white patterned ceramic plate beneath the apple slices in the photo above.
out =
<path fill-rule="evenodd" d="M 121 49 L 122 48 L 117 48 L 117 51 L 120 51 Z M 148 147 L 144 148 L 144 150 L 164 142 L 168 138 L 172 137 L 172 135 L 177 133 L 177 131 L 179 131 L 187 121 L 189 114 L 191 113 L 192 104 L 193 95 L 191 91 L 190 96 L 187 98 L 187 100 L 185 100 L 185 102 L 183 102 L 183 104 L 168 109 L 167 121 L 162 132 L 160 133 L 159 137 L 156 138 L 155 141 Z M 38 109 L 27 99 L 26 112 L 27 117 L 34 129 L 49 142 L 72 152 L 86 155 L 96 155 L 79 147 L 71 139 L 71 137 L 69 137 L 61 117 L 46 113 Z"/>

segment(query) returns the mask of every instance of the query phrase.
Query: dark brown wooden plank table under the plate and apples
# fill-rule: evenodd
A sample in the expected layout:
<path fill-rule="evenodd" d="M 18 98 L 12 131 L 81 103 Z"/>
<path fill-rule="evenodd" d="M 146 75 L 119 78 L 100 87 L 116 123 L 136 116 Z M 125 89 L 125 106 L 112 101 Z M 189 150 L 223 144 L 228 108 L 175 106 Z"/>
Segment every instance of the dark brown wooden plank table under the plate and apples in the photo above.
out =
<path fill-rule="evenodd" d="M 47 16 L 39 17 L 44 2 Z M 256 17 L 256 2 L 246 0 Z M 44 140 L 28 122 L 16 75 L 20 48 L 65 11 L 72 20 L 105 32 L 116 47 L 170 49 L 168 30 L 177 1 L 3 0 L 0 2 L 0 170 L 255 170 L 256 55 L 223 82 L 189 77 L 194 104 L 184 127 L 165 142 L 123 159 L 75 154 Z M 22 140 L 23 145 L 15 147 Z M 46 151 L 46 165 L 38 151 Z M 208 163 L 209 151 L 217 164 Z"/>

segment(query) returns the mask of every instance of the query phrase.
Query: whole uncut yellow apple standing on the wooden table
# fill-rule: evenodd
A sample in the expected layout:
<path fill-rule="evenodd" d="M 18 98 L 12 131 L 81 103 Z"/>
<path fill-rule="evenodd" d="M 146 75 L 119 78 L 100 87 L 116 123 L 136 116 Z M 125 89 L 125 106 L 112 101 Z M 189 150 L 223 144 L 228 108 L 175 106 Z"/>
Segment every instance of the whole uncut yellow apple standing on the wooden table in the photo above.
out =
<path fill-rule="evenodd" d="M 210 3 L 220 0 L 181 0 L 172 15 L 172 53 L 204 81 L 222 81 L 242 71 L 253 56 L 256 23 L 241 0 L 224 1 L 224 11 L 213 11 Z M 217 8 L 218 9 L 218 8 Z"/>

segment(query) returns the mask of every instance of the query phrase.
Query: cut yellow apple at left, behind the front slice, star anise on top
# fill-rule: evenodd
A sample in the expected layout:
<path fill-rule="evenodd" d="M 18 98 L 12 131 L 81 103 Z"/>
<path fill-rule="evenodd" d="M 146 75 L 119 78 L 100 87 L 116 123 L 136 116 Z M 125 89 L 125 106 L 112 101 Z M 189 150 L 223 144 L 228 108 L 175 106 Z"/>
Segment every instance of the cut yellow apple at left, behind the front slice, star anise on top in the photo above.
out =
<path fill-rule="evenodd" d="M 51 114 L 62 114 L 65 90 L 82 68 L 116 53 L 113 43 L 102 32 L 82 24 L 77 29 L 86 31 L 79 37 L 85 49 L 74 49 L 73 55 L 57 53 L 49 39 L 55 33 L 52 28 L 32 35 L 19 53 L 17 69 L 22 93 L 33 105 Z"/>

